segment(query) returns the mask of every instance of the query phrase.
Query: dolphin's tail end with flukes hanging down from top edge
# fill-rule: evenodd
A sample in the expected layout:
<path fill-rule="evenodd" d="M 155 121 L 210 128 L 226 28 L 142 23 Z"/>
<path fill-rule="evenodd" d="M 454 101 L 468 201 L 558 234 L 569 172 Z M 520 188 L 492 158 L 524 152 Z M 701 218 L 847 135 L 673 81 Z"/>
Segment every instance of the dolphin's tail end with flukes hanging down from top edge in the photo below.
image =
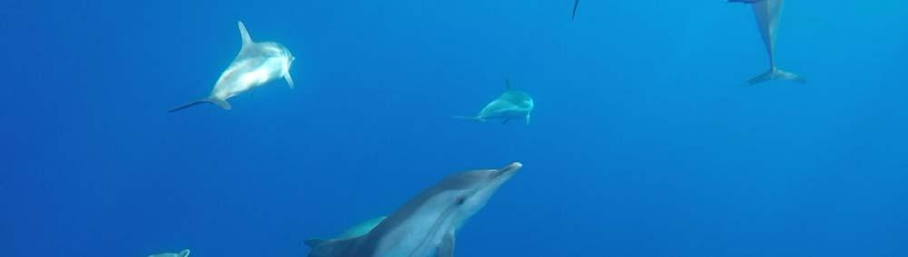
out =
<path fill-rule="evenodd" d="M 748 80 L 747 84 L 759 84 L 777 79 L 791 80 L 801 84 L 807 83 L 804 78 L 797 74 L 783 71 L 775 66 L 775 32 L 779 25 L 779 17 L 782 15 L 782 5 L 785 4 L 785 0 L 728 0 L 728 2 L 754 6 L 756 25 L 760 30 L 760 35 L 763 35 L 766 53 L 769 54 L 769 71 Z"/>

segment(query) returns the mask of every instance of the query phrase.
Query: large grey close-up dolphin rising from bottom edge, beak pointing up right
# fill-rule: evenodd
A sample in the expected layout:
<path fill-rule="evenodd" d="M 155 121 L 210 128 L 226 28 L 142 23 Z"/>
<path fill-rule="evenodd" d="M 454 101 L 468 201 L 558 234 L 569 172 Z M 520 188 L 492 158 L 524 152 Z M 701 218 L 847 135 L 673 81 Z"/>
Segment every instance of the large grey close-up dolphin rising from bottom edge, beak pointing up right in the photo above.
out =
<path fill-rule="evenodd" d="M 520 170 L 455 173 L 410 200 L 359 237 L 307 240 L 309 257 L 452 257 L 455 232 Z"/>

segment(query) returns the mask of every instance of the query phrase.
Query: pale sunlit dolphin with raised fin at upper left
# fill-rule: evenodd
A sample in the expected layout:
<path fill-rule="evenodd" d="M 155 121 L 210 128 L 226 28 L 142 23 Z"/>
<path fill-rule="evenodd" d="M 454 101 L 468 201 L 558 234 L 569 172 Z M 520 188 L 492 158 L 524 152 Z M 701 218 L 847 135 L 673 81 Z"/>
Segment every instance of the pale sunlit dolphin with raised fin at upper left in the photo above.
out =
<path fill-rule="evenodd" d="M 242 22 L 237 22 L 237 24 L 240 26 L 242 36 L 240 54 L 236 55 L 227 70 L 218 78 L 212 94 L 208 98 L 173 108 L 170 113 L 202 103 L 217 104 L 224 110 L 230 110 L 231 105 L 227 103 L 227 99 L 279 77 L 283 77 L 293 88 L 290 65 L 293 64 L 295 58 L 290 50 L 274 42 L 253 42 L 249 32 L 246 31 L 246 25 L 243 25 Z"/>

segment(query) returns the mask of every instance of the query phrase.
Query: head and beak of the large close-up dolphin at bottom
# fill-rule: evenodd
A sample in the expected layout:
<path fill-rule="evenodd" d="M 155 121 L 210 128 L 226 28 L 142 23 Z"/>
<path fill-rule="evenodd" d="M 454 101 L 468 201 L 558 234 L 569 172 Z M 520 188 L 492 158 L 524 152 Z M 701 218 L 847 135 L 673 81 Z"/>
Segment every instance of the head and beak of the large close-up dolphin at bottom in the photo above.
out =
<path fill-rule="evenodd" d="M 502 184 L 508 182 L 523 166 L 521 163 L 511 163 L 498 170 L 479 170 L 465 173 L 456 173 L 439 183 L 445 197 L 451 204 L 452 222 L 459 227 L 470 216 L 479 212 L 489 203 L 489 199 Z"/>

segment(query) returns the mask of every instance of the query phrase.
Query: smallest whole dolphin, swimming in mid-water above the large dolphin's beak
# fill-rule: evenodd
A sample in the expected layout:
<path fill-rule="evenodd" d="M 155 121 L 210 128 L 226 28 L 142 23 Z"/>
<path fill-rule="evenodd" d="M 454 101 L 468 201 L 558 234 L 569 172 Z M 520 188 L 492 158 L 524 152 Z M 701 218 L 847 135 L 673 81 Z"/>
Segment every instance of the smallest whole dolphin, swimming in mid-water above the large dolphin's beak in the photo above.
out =
<path fill-rule="evenodd" d="M 455 119 L 485 122 L 489 119 L 524 118 L 529 125 L 529 114 L 533 112 L 533 98 L 526 92 L 514 89 L 510 80 L 505 80 L 505 93 L 501 94 L 473 117 L 454 116 Z"/>

